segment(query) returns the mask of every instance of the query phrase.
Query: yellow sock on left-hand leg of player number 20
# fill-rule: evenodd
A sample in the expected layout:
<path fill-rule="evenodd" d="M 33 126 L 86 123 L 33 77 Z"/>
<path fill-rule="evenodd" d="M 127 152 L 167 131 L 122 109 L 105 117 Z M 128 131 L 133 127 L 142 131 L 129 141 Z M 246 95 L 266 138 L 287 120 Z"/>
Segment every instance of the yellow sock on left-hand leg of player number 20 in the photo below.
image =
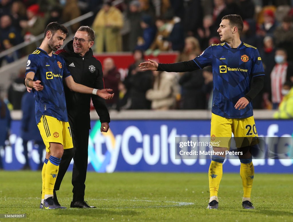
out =
<path fill-rule="evenodd" d="M 223 164 L 211 161 L 209 165 L 209 196 L 218 196 L 219 185 L 223 175 Z"/>

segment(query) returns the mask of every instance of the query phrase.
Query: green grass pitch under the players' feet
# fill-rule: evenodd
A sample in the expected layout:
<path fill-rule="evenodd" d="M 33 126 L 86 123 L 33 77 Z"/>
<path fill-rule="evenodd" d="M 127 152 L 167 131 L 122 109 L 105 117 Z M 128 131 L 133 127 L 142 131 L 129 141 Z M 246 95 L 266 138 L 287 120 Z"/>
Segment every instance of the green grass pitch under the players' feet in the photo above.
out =
<path fill-rule="evenodd" d="M 65 207 L 72 198 L 71 172 L 57 196 Z M 39 209 L 40 171 L 0 171 L 0 214 L 26 214 L 27 218 L 0 221 L 293 221 L 293 175 L 255 174 L 252 202 L 241 207 L 239 174 L 224 173 L 219 209 L 207 210 L 206 173 L 88 172 L 85 199 L 96 209 Z"/>

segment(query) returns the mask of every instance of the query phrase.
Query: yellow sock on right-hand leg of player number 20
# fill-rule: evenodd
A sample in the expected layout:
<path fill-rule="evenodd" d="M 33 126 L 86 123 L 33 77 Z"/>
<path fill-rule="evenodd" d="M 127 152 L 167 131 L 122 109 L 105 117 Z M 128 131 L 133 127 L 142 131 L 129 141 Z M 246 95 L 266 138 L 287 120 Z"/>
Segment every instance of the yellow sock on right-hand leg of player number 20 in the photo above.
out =
<path fill-rule="evenodd" d="M 242 178 L 243 197 L 250 198 L 254 178 L 254 167 L 252 162 L 248 164 L 241 163 L 240 176 Z"/>

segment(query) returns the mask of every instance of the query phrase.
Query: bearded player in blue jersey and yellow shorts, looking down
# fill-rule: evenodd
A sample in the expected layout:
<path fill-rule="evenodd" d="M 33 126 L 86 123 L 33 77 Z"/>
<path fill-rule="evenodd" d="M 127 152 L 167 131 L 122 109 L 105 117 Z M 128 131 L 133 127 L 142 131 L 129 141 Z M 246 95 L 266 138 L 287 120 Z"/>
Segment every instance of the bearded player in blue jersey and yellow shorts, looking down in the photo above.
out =
<path fill-rule="evenodd" d="M 46 145 L 40 204 L 40 208 L 45 209 L 65 208 L 53 200 L 53 188 L 63 151 L 73 148 L 63 79 L 72 91 L 92 93 L 104 99 L 113 98 L 111 89 L 98 90 L 75 83 L 64 59 L 53 53 L 62 46 L 67 34 L 68 30 L 63 25 L 49 23 L 41 46 L 28 56 L 26 67 L 25 85 L 34 93 L 36 122 Z"/>

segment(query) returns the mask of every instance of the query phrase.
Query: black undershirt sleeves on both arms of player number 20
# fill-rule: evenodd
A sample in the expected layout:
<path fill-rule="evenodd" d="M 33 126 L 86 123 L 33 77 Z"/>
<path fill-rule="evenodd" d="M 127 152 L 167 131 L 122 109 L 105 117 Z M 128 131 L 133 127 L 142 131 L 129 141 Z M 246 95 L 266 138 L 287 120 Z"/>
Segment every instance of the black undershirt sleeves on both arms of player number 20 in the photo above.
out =
<path fill-rule="evenodd" d="M 194 60 L 179 62 L 179 63 L 170 63 L 163 64 L 159 63 L 158 71 L 165 72 L 190 72 L 193 70 L 198 70 L 200 67 L 195 63 Z M 264 84 L 264 75 L 259 75 L 253 77 L 253 82 L 248 93 L 244 96 L 249 102 L 263 89 Z"/>

